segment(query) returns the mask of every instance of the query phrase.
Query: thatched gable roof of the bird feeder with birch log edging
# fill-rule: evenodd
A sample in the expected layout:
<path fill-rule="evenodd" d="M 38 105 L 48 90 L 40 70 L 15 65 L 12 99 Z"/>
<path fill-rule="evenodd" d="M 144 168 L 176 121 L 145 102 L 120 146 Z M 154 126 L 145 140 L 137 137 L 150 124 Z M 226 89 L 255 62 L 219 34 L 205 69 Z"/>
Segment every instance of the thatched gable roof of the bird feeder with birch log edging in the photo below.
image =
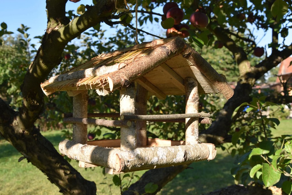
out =
<path fill-rule="evenodd" d="M 160 99 L 185 94 L 184 79 L 199 82 L 199 93 L 222 93 L 232 88 L 191 46 L 179 37 L 145 42 L 101 54 L 67 73 L 41 84 L 46 95 L 56 91 L 97 89 L 103 95 L 135 81 Z"/>

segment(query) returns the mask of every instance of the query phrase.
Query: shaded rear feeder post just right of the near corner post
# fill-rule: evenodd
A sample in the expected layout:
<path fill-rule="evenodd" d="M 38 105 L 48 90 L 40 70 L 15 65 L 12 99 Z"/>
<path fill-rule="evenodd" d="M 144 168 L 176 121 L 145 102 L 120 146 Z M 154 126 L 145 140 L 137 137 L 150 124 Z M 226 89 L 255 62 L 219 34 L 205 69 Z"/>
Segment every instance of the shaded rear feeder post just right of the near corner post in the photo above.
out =
<path fill-rule="evenodd" d="M 136 83 L 136 114 L 146 115 L 147 114 L 147 94 L 148 91 L 140 84 Z M 137 146 L 147 145 L 147 124 L 146 121 L 136 121 L 137 129 Z"/>

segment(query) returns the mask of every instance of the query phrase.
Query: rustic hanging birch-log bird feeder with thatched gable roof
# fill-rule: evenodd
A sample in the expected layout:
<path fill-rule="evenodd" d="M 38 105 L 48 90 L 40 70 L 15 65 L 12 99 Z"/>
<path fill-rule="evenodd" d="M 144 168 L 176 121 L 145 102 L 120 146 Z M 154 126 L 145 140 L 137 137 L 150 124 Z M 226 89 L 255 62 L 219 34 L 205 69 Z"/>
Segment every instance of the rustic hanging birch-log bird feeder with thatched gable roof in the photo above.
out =
<path fill-rule="evenodd" d="M 73 113 L 64 114 L 64 122 L 73 123 L 73 137 L 60 142 L 60 152 L 79 160 L 80 167 L 102 165 L 110 174 L 215 158 L 215 146 L 199 142 L 199 123 L 211 123 L 210 114 L 198 113 L 199 94 L 233 95 L 225 77 L 179 37 L 101 54 L 41 88 L 47 96 L 56 91 L 74 96 Z M 87 113 L 91 89 L 98 95 L 120 90 L 120 113 Z M 185 113 L 146 115 L 149 95 L 186 95 Z M 102 117 L 120 120 L 94 119 Z M 146 122 L 155 120 L 183 120 L 185 141 L 147 138 Z M 120 127 L 121 139 L 87 141 L 88 124 Z"/>

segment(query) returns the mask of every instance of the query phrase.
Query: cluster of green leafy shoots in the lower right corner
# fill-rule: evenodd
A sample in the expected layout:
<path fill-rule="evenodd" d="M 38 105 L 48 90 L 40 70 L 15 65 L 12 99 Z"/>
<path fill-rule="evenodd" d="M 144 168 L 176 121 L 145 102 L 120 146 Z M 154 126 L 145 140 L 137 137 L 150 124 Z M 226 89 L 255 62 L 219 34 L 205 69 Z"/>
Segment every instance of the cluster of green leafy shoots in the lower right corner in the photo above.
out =
<path fill-rule="evenodd" d="M 277 118 L 263 115 L 270 106 L 278 105 L 261 97 L 237 108 L 238 111 L 244 107 L 241 121 L 247 123 L 232 135 L 233 145 L 229 149 L 232 149 L 233 155 L 237 154 L 237 166 L 231 172 L 236 183 L 245 184 L 253 179 L 263 182 L 266 187 L 277 184 L 283 177 L 287 181 L 282 184 L 282 189 L 290 194 L 292 138 L 291 135 L 272 137 L 270 129 L 280 122 Z"/>

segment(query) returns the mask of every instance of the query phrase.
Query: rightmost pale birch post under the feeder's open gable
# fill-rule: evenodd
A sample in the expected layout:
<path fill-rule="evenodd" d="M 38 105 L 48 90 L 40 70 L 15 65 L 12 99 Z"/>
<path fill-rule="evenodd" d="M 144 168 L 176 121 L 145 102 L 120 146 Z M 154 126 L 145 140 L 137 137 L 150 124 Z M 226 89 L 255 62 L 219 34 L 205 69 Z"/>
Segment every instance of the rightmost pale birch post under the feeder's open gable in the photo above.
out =
<path fill-rule="evenodd" d="M 185 78 L 185 96 L 186 106 L 185 113 L 198 113 L 199 108 L 199 92 L 198 82 L 192 78 Z M 199 143 L 199 118 L 185 119 L 185 144 Z"/>

